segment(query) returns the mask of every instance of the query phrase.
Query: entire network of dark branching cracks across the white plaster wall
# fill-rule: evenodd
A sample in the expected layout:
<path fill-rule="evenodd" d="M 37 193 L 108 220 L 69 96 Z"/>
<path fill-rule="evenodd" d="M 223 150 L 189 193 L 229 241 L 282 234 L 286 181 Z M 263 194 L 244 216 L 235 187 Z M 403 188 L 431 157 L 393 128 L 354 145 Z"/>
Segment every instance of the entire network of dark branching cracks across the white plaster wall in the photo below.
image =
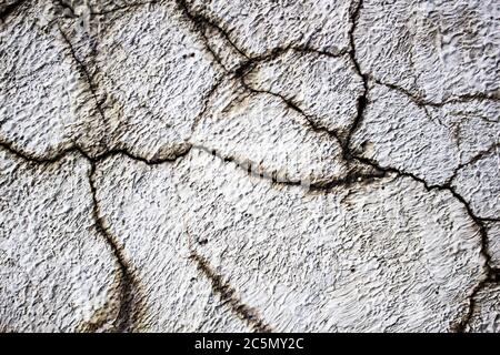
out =
<path fill-rule="evenodd" d="M 9 16 L 11 16 L 19 7 L 21 7 L 26 2 L 27 2 L 27 0 L 20 0 L 20 1 L 16 1 L 16 2 L 4 7 L 3 11 L 0 13 L 0 21 L 3 22 Z M 147 1 L 147 2 L 138 2 L 138 3 L 133 3 L 133 4 L 129 4 L 129 6 L 118 7 L 118 8 L 111 9 L 111 10 L 101 11 L 101 12 L 92 12 L 91 14 L 92 16 L 104 16 L 104 14 L 113 12 L 113 11 L 128 10 L 128 9 L 137 8 L 139 6 L 153 4 L 157 2 L 158 2 L 157 0 Z M 60 3 L 60 6 L 62 6 L 64 8 L 68 7 L 66 4 L 66 2 L 63 2 L 63 1 L 59 1 L 59 3 Z M 359 128 L 359 125 L 361 124 L 361 122 L 363 120 L 363 114 L 364 114 L 366 108 L 368 105 L 368 94 L 369 94 L 369 82 L 370 81 L 374 82 L 377 84 L 380 84 L 380 85 L 384 85 L 389 89 L 396 90 L 396 91 L 404 94 L 412 102 L 414 102 L 418 106 L 423 108 L 427 113 L 428 113 L 427 106 L 440 108 L 440 106 L 443 106 L 443 105 L 450 104 L 450 103 L 484 101 L 484 100 L 500 101 L 500 98 L 489 97 L 487 94 L 466 94 L 466 95 L 460 95 L 454 99 L 448 99 L 448 100 L 444 100 L 441 102 L 433 102 L 433 101 L 428 101 L 428 100 L 418 98 L 410 91 L 406 90 L 404 88 L 398 87 L 397 84 L 384 83 L 380 80 L 373 79 L 368 73 L 363 73 L 361 70 L 361 67 L 358 62 L 358 59 L 357 59 L 357 49 L 356 49 L 356 40 L 354 40 L 354 31 L 357 28 L 360 11 L 363 8 L 363 0 L 353 0 L 351 2 L 351 7 L 350 7 L 351 27 L 350 27 L 350 30 L 348 31 L 349 41 L 350 41 L 349 49 L 342 50 L 339 53 L 329 53 L 329 52 L 310 49 L 304 45 L 294 45 L 293 43 L 290 43 L 287 47 L 274 48 L 274 49 L 272 49 L 261 55 L 258 55 L 258 57 L 251 57 L 251 55 L 248 55 L 247 53 L 244 53 L 244 51 L 242 49 L 238 48 L 238 45 L 236 45 L 234 42 L 231 40 L 230 33 L 224 31 L 220 24 L 214 23 L 210 19 L 208 19 L 201 14 L 193 13 L 189 9 L 189 7 L 184 0 L 177 0 L 177 3 L 179 4 L 179 8 L 183 11 L 186 17 L 196 24 L 196 29 L 198 31 L 200 31 L 200 33 L 202 34 L 201 37 L 203 39 L 203 42 L 204 42 L 207 49 L 212 53 L 213 58 L 216 59 L 216 61 L 219 62 L 219 64 L 222 65 L 222 61 L 220 60 L 220 58 L 218 58 L 216 51 L 210 48 L 209 39 L 206 37 L 206 34 L 203 34 L 203 29 L 206 26 L 211 26 L 211 27 L 216 28 L 218 31 L 220 31 L 220 33 L 224 37 L 224 39 L 228 41 L 228 43 L 230 43 L 230 45 L 232 45 L 242 57 L 244 57 L 247 59 L 247 61 L 244 61 L 238 69 L 236 69 L 233 71 L 234 75 L 237 78 L 241 79 L 241 81 L 247 90 L 250 90 L 251 92 L 254 92 L 254 93 L 267 93 L 267 94 L 271 94 L 277 98 L 280 98 L 289 108 L 291 108 L 296 112 L 299 112 L 303 118 L 306 118 L 310 128 L 314 132 L 328 133 L 330 136 L 332 136 L 334 140 L 337 140 L 337 142 L 339 142 L 339 144 L 342 149 L 343 159 L 347 162 L 356 161 L 363 165 L 371 166 L 376 171 L 376 173 L 373 173 L 373 174 L 351 174 L 351 175 L 348 175 L 348 178 L 346 178 L 346 179 L 333 180 L 331 182 L 318 184 L 318 185 L 310 185 L 309 187 L 311 190 L 328 192 L 328 190 L 330 190 L 334 186 L 349 186 L 351 184 L 357 184 L 360 182 L 369 183 L 376 179 L 387 176 L 388 174 L 396 174 L 398 176 L 410 178 L 410 179 L 421 183 L 427 191 L 433 191 L 433 190 L 448 191 L 449 193 L 452 194 L 452 196 L 456 200 L 458 200 L 464 206 L 467 214 L 476 223 L 476 225 L 479 229 L 480 242 L 481 242 L 481 251 L 480 252 L 486 261 L 483 267 L 484 267 L 484 272 L 487 275 L 486 278 L 483 278 L 476 285 L 476 287 L 472 290 L 471 294 L 468 295 L 469 308 L 468 308 L 466 315 L 462 317 L 462 320 L 453 326 L 453 331 L 457 331 L 457 332 L 466 331 L 467 326 L 472 317 L 472 314 L 474 313 L 474 310 L 477 307 L 474 297 L 478 294 L 478 292 L 480 290 L 482 290 L 482 287 L 487 283 L 500 282 L 500 270 L 494 268 L 490 265 L 491 256 L 488 253 L 488 232 L 487 232 L 487 226 L 486 226 L 486 222 L 500 222 L 500 219 L 483 219 L 483 217 L 477 216 L 474 214 L 474 212 L 472 211 L 470 204 L 466 201 L 466 199 L 463 199 L 451 185 L 451 182 L 454 179 L 454 176 L 457 175 L 458 171 L 460 171 L 460 169 L 462 169 L 466 165 L 469 165 L 471 163 L 474 163 L 478 160 L 482 159 L 486 154 L 491 153 L 494 149 L 499 148 L 499 143 L 493 144 L 488 150 L 480 152 L 479 154 L 477 154 L 474 158 L 472 158 L 468 162 L 460 164 L 456 169 L 452 178 L 447 183 L 441 184 L 441 185 L 430 185 L 427 183 L 426 180 L 423 180 L 422 178 L 419 178 L 412 173 L 404 172 L 404 171 L 401 171 L 399 169 L 391 168 L 391 166 L 381 166 L 376 161 L 358 156 L 353 151 L 351 151 L 350 141 L 351 141 L 353 133 L 357 131 L 357 129 Z M 70 12 L 74 14 L 74 11 L 71 7 L 69 7 L 68 10 L 70 10 Z M 96 84 L 92 81 L 91 73 L 86 68 L 86 64 L 82 62 L 82 60 L 80 60 L 78 58 L 77 52 L 76 52 L 74 48 L 72 47 L 72 43 L 69 40 L 68 36 L 64 33 L 64 31 L 60 27 L 59 27 L 59 30 L 61 32 L 61 36 L 62 36 L 64 42 L 67 43 L 67 45 L 71 52 L 73 60 L 77 63 L 77 67 L 81 71 L 86 81 L 88 82 L 90 92 L 92 94 L 92 99 L 96 101 L 97 110 L 98 110 L 102 121 L 106 123 L 107 120 L 106 120 L 106 115 L 104 115 L 104 110 L 101 105 L 102 103 L 99 100 L 98 90 L 97 90 Z M 310 115 L 306 114 L 304 111 L 302 109 L 300 109 L 299 105 L 296 104 L 292 100 L 289 100 L 278 93 L 263 91 L 263 90 L 254 90 L 244 83 L 244 80 L 243 80 L 244 75 L 249 71 L 251 71 L 258 62 L 277 58 L 278 55 L 282 54 L 284 51 L 288 51 L 291 49 L 301 51 L 301 52 L 314 52 L 314 53 L 318 53 L 321 55 L 329 55 L 329 57 L 340 57 L 340 55 L 348 54 L 350 60 L 352 61 L 356 73 L 362 79 L 363 93 L 358 98 L 357 115 L 356 115 L 351 126 L 349 128 L 347 138 L 343 141 L 340 140 L 338 132 L 336 132 L 333 130 L 328 130 L 327 128 L 317 124 L 316 120 L 313 118 L 311 118 Z M 216 91 L 216 89 L 218 88 L 218 85 L 220 84 L 221 81 L 216 83 L 216 85 L 209 92 L 208 97 L 206 98 L 207 104 L 208 104 L 208 101 L 210 100 L 210 97 Z M 206 106 L 207 106 L 207 104 L 206 104 Z M 207 108 L 204 110 L 207 110 Z M 200 118 L 203 114 L 204 114 L 204 111 L 201 112 Z M 196 120 L 194 124 L 197 124 L 198 121 L 199 121 L 199 119 Z M 100 144 L 103 144 L 106 148 L 108 148 L 109 144 L 106 141 L 107 138 L 103 136 L 102 139 L 104 140 L 104 142 L 100 142 Z M 127 257 L 124 256 L 124 253 L 123 253 L 123 247 L 119 244 L 119 242 L 112 235 L 112 233 L 110 233 L 106 227 L 104 220 L 103 220 L 102 214 L 99 209 L 99 201 L 97 199 L 97 186 L 96 186 L 96 180 L 94 180 L 97 163 L 99 163 L 100 161 L 102 161 L 107 158 L 121 154 L 121 155 L 128 156 L 129 159 L 132 159 L 136 161 L 141 161 L 146 164 L 156 165 L 156 164 L 172 162 L 172 161 L 188 154 L 189 151 L 191 150 L 191 148 L 194 148 L 194 149 L 206 151 L 212 155 L 216 155 L 223 161 L 234 161 L 239 168 L 246 169 L 249 172 L 251 171 L 251 166 L 252 166 L 251 162 L 238 162 L 231 158 L 223 158 L 216 151 L 209 150 L 209 149 L 207 149 L 204 146 L 200 146 L 200 145 L 196 145 L 196 146 L 189 145 L 184 151 L 179 153 L 173 159 L 172 158 L 144 159 L 141 156 L 137 156 L 127 150 L 120 150 L 120 149 L 107 150 L 106 152 L 103 152 L 101 154 L 98 154 L 96 156 L 90 156 L 86 152 L 86 150 L 83 150 L 82 148 L 80 148 L 77 144 L 73 144 L 71 148 L 68 148 L 68 149 L 59 150 L 57 153 L 53 153 L 48 156 L 36 156 L 34 154 L 24 153 L 18 149 L 16 149 L 12 143 L 0 142 L 0 148 L 9 151 L 10 153 L 12 153 L 17 156 L 20 156 L 21 159 L 23 159 L 26 161 L 33 162 L 33 163 L 57 162 L 70 153 L 79 153 L 90 162 L 91 170 L 90 170 L 90 174 L 89 174 L 89 183 L 90 183 L 90 189 L 91 189 L 91 193 L 92 193 L 92 203 L 93 203 L 92 213 L 93 213 L 93 219 L 96 221 L 96 226 L 97 226 L 99 233 L 103 235 L 107 244 L 111 247 L 113 255 L 117 258 L 118 264 L 120 266 L 120 271 L 122 273 L 122 284 L 121 284 L 121 286 L 122 286 L 122 304 L 121 304 L 120 313 L 119 313 L 119 316 L 117 318 L 117 324 L 116 324 L 116 328 L 119 332 L 131 329 L 132 327 L 134 327 L 137 325 L 137 321 L 138 321 L 137 315 L 138 315 L 138 312 L 140 312 L 141 310 L 132 310 L 132 307 L 133 307 L 133 305 L 138 304 L 136 297 L 137 297 L 137 290 L 138 290 L 139 281 L 134 276 L 133 271 L 131 270 L 129 263 L 127 262 Z M 269 173 L 260 173 L 259 175 L 260 175 L 260 178 L 268 179 L 268 180 L 272 181 L 273 183 L 280 183 L 280 184 L 284 184 L 284 185 L 300 185 L 301 184 L 301 182 L 294 182 L 294 181 L 292 181 L 292 182 L 279 181 L 276 173 L 270 173 L 270 174 Z M 189 234 L 188 234 L 188 239 L 189 239 Z M 189 245 L 190 245 L 190 242 L 189 242 Z M 209 262 L 203 256 L 199 255 L 191 247 L 191 245 L 190 245 L 190 252 L 191 252 L 190 258 L 197 264 L 198 270 L 210 280 L 213 292 L 220 296 L 223 304 L 228 305 L 229 308 L 234 314 L 237 314 L 241 320 L 243 320 L 254 331 L 258 331 L 258 332 L 272 331 L 271 327 L 260 317 L 259 312 L 250 306 L 244 305 L 241 302 L 241 300 L 239 298 L 239 296 L 237 295 L 236 290 L 229 283 L 227 283 L 223 280 L 222 275 L 218 274 L 211 267 Z M 133 295 L 133 302 L 132 302 L 132 295 Z"/>

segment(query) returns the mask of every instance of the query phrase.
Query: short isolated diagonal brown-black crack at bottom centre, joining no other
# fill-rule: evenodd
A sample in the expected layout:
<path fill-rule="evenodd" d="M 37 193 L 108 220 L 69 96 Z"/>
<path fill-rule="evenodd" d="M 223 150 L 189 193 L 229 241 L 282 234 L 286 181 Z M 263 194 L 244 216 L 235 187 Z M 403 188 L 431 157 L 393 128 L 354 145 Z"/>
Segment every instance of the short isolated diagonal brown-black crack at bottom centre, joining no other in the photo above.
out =
<path fill-rule="evenodd" d="M 197 253 L 191 245 L 189 232 L 186 233 L 188 235 L 188 247 L 190 250 L 189 258 L 196 263 L 198 271 L 210 281 L 212 291 L 214 294 L 219 295 L 222 305 L 229 307 L 233 314 L 254 332 L 271 333 L 272 327 L 262 318 L 260 312 L 241 301 L 236 288 L 224 281 L 224 277 L 221 274 L 213 270 L 207 258 Z"/>

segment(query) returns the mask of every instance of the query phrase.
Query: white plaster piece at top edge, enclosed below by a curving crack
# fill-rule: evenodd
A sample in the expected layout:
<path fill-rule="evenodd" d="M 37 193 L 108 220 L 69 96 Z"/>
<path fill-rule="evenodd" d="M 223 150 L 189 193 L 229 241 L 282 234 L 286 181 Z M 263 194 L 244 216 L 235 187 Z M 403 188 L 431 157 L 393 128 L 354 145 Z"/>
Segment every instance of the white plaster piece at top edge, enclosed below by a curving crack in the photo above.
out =
<path fill-rule="evenodd" d="M 218 23 L 249 57 L 308 47 L 338 54 L 349 45 L 350 1 L 187 0 L 191 12 Z"/>

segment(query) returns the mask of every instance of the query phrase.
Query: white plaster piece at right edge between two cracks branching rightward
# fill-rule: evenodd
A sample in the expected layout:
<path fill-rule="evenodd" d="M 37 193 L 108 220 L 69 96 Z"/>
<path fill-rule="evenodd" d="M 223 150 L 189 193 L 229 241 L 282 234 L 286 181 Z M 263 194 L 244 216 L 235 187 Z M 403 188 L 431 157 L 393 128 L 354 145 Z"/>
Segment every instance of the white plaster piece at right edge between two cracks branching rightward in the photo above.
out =
<path fill-rule="evenodd" d="M 461 164 L 498 144 L 499 103 L 487 100 L 424 106 L 374 84 L 351 148 L 361 156 L 444 184 Z M 478 134 L 480 132 L 480 134 Z"/>

